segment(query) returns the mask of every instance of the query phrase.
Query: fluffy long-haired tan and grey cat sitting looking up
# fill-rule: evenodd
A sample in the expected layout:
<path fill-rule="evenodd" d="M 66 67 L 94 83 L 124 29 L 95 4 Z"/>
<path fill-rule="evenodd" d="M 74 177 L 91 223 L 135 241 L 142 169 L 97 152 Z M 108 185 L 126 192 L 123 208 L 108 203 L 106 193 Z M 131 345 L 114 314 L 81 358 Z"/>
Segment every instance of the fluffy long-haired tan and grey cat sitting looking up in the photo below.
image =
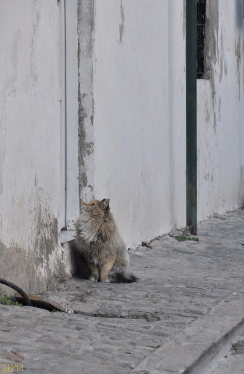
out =
<path fill-rule="evenodd" d="M 75 222 L 76 246 L 91 270 L 91 280 L 136 282 L 128 272 L 129 255 L 110 213 L 109 199 L 91 200 Z"/>

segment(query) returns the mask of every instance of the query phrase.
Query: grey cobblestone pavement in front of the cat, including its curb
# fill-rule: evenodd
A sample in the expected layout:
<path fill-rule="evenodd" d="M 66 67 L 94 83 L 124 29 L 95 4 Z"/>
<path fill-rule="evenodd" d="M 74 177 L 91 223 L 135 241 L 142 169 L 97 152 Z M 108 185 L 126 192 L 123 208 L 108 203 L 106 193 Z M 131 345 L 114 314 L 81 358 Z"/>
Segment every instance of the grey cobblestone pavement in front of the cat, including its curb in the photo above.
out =
<path fill-rule="evenodd" d="M 130 250 L 137 283 L 70 279 L 43 295 L 74 313 L 0 306 L 0 369 L 184 373 L 244 319 L 244 210 L 198 232 L 199 242 L 163 236 Z"/>

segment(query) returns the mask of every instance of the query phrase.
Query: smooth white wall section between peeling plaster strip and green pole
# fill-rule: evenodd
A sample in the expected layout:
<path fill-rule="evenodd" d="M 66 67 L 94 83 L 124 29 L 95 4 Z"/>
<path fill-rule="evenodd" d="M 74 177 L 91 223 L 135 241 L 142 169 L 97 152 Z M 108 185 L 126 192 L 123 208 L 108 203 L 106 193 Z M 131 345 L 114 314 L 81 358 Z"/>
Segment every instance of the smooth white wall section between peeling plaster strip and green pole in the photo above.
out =
<path fill-rule="evenodd" d="M 128 246 L 185 224 L 183 10 L 94 2 L 93 193 L 111 199 Z"/>

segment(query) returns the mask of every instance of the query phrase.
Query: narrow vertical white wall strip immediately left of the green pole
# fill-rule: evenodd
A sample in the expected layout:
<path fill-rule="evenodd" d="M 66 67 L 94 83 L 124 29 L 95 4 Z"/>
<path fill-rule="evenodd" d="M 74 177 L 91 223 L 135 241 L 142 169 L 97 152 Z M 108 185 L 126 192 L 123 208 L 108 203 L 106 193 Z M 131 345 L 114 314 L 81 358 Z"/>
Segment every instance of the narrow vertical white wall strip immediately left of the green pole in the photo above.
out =
<path fill-rule="evenodd" d="M 186 225 L 185 0 L 169 0 L 170 227 Z"/>

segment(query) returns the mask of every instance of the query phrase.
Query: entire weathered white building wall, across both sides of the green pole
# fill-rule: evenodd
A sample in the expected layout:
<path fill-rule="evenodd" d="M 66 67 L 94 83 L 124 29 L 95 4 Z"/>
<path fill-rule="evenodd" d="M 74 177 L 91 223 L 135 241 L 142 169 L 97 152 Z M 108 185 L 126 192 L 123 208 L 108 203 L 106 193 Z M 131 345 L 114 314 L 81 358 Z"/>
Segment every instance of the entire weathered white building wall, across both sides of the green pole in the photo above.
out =
<path fill-rule="evenodd" d="M 32 292 L 71 271 L 60 245 L 60 1 L 0 0 L 0 277 Z M 244 201 L 242 1 L 210 4 L 210 78 L 198 81 L 198 220 Z M 185 1 L 70 0 L 66 8 L 68 227 L 93 196 L 111 199 L 128 247 L 183 227 Z"/>

